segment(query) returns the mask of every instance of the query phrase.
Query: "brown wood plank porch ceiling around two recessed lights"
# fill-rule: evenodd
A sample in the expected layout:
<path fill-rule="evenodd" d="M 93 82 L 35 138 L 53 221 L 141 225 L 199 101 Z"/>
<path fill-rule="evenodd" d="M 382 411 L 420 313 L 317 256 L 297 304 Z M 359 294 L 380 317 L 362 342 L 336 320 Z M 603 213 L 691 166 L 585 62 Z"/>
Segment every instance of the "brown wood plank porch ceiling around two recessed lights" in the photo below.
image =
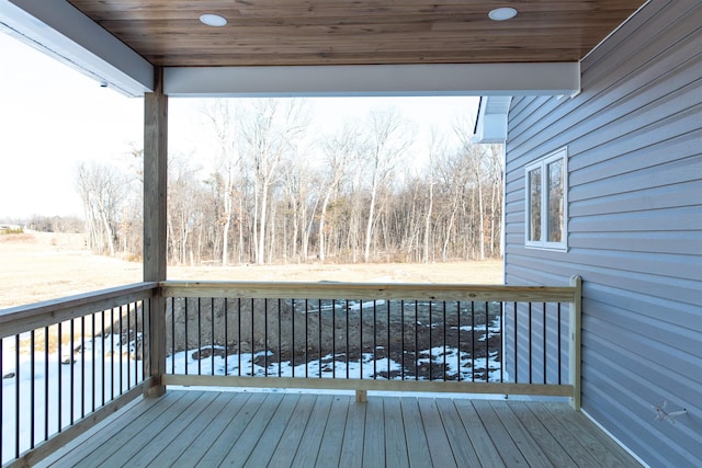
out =
<path fill-rule="evenodd" d="M 577 61 L 643 0 L 69 0 L 157 66 Z M 492 21 L 499 7 L 516 18 Z M 223 27 L 203 13 L 227 19 Z"/>

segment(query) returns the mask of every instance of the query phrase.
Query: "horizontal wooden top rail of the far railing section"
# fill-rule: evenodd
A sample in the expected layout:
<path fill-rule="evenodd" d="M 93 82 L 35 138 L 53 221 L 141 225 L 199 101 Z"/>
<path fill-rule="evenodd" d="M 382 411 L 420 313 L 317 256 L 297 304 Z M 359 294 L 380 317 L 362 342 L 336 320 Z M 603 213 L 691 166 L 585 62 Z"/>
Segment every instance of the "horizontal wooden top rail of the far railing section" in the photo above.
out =
<path fill-rule="evenodd" d="M 571 303 L 576 294 L 573 286 L 473 284 L 166 281 L 159 286 L 166 297 Z"/>

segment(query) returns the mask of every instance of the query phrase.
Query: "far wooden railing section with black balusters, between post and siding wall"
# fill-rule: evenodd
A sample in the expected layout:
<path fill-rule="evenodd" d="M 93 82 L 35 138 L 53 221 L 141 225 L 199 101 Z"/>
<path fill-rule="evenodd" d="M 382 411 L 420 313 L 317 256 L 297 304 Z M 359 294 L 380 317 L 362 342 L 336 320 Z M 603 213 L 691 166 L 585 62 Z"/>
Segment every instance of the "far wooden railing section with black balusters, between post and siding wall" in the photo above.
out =
<path fill-rule="evenodd" d="M 361 400 L 367 390 L 565 396 L 579 407 L 579 279 L 165 282 L 161 294 L 166 385 L 352 389 Z"/>

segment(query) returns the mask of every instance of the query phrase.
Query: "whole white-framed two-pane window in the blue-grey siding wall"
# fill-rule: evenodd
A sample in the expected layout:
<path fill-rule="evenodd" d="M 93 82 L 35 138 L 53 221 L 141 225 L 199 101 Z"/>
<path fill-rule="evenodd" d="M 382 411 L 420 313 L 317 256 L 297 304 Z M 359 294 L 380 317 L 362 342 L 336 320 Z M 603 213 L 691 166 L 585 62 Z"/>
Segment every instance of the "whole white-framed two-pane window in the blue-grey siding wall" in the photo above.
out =
<path fill-rule="evenodd" d="M 526 165 L 526 247 L 567 249 L 566 148 Z"/>

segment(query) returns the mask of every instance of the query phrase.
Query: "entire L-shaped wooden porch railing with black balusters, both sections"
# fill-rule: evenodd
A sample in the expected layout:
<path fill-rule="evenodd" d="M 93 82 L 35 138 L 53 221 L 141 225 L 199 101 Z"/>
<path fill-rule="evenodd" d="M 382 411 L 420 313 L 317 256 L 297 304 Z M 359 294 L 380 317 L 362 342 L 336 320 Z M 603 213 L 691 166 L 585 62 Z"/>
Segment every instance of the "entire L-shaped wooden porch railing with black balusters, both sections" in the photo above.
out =
<path fill-rule="evenodd" d="M 33 465 L 165 385 L 543 395 L 577 409 L 580 296 L 579 278 L 169 281 L 1 310 L 0 463 Z"/>

